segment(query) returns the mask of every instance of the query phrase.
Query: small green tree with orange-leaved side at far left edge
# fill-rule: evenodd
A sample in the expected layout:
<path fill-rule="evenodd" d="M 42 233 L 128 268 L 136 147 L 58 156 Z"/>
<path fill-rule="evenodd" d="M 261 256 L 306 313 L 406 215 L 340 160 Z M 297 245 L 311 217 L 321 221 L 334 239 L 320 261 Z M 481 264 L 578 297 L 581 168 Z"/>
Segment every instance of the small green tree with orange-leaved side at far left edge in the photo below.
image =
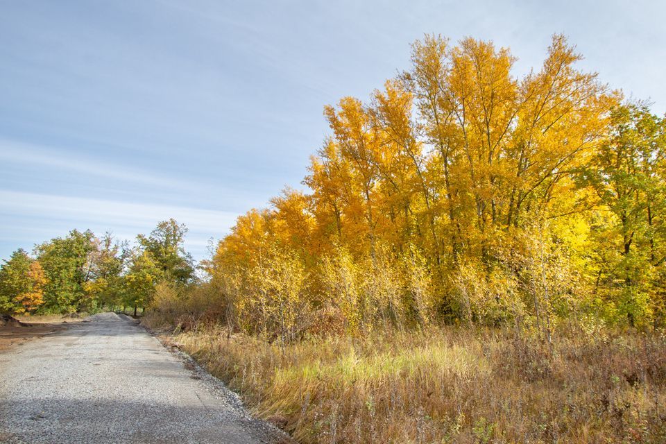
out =
<path fill-rule="evenodd" d="M 19 249 L 0 268 L 0 312 L 25 314 L 44 302 L 46 276 L 39 262 Z"/>

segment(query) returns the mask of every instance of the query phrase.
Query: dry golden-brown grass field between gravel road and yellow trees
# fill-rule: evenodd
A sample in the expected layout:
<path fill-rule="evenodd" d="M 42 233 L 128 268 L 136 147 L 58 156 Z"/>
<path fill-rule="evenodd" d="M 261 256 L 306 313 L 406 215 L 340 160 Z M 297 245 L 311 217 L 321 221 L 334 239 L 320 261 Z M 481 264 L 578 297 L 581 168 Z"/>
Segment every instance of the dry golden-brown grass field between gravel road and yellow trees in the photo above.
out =
<path fill-rule="evenodd" d="M 302 443 L 665 443 L 666 339 L 446 328 L 174 341 Z"/>

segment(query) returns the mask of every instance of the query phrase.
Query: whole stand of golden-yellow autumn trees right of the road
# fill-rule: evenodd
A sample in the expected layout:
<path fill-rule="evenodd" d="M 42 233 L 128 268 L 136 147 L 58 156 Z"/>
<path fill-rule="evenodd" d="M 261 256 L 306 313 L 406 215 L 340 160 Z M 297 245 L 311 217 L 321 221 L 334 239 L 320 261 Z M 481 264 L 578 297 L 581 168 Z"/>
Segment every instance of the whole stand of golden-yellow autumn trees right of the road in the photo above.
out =
<path fill-rule="evenodd" d="M 620 94 L 579 60 L 554 35 L 543 66 L 518 78 L 509 49 L 427 35 L 411 69 L 368 103 L 325 107 L 332 134 L 311 157 L 309 191 L 287 188 L 239 217 L 210 264 L 239 325 L 283 339 L 317 330 L 318 318 L 350 334 L 456 320 L 549 332 L 599 301 L 631 323 L 658 318 L 645 305 L 664 299 L 649 296 L 666 275 L 663 205 L 642 202 L 666 197 L 666 130 L 644 112 L 640 125 L 617 117 Z M 643 139 L 620 137 L 621 124 Z M 612 184 L 600 185 L 610 167 L 599 153 L 637 137 L 651 148 L 631 151 L 646 153 L 633 162 L 648 162 L 658 184 L 640 185 L 627 219 L 641 221 L 642 244 L 630 223 L 618 234 L 622 213 L 604 201 Z M 640 254 L 615 248 L 618 235 Z M 648 250 L 649 278 L 639 277 Z"/>

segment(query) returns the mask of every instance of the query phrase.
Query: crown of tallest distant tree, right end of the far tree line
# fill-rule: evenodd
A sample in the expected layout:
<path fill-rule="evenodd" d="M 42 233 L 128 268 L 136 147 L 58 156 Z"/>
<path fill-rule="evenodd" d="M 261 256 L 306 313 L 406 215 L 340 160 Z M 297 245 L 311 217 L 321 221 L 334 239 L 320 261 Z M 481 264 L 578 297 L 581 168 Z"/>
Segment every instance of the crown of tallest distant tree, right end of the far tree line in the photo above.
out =
<path fill-rule="evenodd" d="M 164 278 L 180 283 L 188 282 L 194 276 L 194 261 L 182 246 L 185 234 L 185 224 L 169 219 L 158 223 L 149 236 L 139 234 L 137 237 L 139 245 L 164 273 Z"/>

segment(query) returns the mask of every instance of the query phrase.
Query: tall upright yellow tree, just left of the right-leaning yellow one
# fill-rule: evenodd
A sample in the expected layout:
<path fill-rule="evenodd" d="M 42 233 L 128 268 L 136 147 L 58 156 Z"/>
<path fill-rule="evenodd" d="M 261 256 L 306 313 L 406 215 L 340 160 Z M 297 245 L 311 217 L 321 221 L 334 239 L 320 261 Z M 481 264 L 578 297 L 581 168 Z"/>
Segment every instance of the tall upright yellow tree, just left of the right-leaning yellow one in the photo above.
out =
<path fill-rule="evenodd" d="M 487 259 L 495 236 L 506 151 L 520 98 L 513 57 L 490 42 L 468 38 L 449 48 L 441 37 L 413 45 L 413 69 L 403 78 L 418 98 L 427 142 L 443 171 L 453 257 L 464 245 Z"/>

